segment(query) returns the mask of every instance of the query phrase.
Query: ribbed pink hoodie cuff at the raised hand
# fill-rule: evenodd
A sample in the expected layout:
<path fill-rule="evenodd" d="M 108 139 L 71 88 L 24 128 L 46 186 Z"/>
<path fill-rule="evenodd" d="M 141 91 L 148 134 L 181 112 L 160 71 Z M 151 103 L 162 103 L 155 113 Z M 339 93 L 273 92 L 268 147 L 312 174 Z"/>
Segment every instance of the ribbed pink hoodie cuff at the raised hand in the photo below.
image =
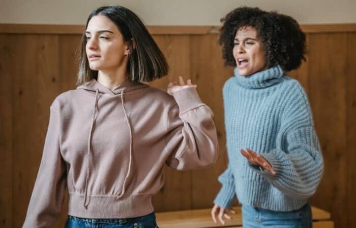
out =
<path fill-rule="evenodd" d="M 175 102 L 177 102 L 177 104 L 179 106 L 180 115 L 182 115 L 186 111 L 189 111 L 193 108 L 197 108 L 201 105 L 205 105 L 201 101 L 201 99 L 194 87 L 188 87 L 188 88 L 176 91 L 175 93 L 173 93 L 173 97 L 175 99 Z"/>

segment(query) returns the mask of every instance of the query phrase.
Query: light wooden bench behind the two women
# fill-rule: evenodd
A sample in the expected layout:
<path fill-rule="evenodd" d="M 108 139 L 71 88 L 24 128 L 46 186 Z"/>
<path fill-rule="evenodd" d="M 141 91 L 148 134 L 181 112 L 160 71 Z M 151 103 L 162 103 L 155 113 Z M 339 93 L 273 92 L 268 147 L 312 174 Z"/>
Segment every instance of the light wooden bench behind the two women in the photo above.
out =
<path fill-rule="evenodd" d="M 214 223 L 210 209 L 185 210 L 172 212 L 157 212 L 156 218 L 160 228 L 202 228 L 202 227 L 242 227 L 241 207 L 234 207 L 236 214 L 231 214 L 232 220 L 225 220 L 225 225 Z M 312 207 L 313 228 L 334 228 L 330 213 Z"/>

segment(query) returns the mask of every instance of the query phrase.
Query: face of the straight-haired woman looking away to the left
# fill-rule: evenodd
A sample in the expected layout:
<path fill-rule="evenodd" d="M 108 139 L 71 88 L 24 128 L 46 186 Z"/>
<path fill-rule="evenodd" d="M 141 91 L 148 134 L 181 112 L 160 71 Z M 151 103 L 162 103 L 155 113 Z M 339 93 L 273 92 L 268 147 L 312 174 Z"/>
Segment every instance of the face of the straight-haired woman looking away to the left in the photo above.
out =
<path fill-rule="evenodd" d="M 86 56 L 92 70 L 117 70 L 123 64 L 127 65 L 127 43 L 109 18 L 102 15 L 92 17 L 85 36 Z"/>

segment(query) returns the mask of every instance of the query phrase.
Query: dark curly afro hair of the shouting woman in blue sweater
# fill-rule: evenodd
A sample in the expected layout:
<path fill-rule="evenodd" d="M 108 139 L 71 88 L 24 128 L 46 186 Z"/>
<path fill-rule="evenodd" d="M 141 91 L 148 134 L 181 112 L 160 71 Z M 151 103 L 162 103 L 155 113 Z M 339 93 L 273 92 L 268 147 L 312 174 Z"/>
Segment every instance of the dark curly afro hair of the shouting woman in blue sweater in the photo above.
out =
<path fill-rule="evenodd" d="M 226 65 L 236 66 L 232 55 L 236 31 L 251 26 L 256 29 L 269 67 L 280 65 L 285 71 L 298 68 L 305 59 L 305 34 L 292 17 L 259 8 L 240 7 L 220 20 L 219 44 Z"/>

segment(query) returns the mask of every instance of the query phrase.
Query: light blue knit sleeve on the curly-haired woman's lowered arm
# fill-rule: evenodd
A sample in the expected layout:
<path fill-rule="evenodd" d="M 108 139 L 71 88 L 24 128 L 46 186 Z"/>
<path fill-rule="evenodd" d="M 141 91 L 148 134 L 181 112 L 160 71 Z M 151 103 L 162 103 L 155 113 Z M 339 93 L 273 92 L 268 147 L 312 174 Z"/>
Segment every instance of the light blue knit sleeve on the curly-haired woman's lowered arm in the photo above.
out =
<path fill-rule="evenodd" d="M 235 197 L 235 180 L 230 166 L 219 176 L 218 180 L 222 184 L 222 187 L 214 203 L 222 208 L 228 209 L 231 207 L 231 203 Z"/>

